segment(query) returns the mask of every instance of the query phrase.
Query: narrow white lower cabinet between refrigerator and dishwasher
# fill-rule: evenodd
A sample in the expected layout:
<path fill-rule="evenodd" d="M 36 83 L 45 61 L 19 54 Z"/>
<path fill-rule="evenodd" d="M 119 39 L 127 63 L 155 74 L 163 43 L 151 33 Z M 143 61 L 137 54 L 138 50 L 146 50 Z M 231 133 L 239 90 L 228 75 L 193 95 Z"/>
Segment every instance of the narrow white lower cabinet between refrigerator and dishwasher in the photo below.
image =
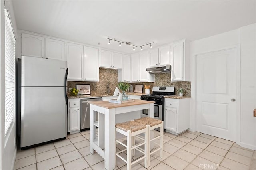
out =
<path fill-rule="evenodd" d="M 81 120 L 80 99 L 68 99 L 68 132 L 79 132 Z"/>

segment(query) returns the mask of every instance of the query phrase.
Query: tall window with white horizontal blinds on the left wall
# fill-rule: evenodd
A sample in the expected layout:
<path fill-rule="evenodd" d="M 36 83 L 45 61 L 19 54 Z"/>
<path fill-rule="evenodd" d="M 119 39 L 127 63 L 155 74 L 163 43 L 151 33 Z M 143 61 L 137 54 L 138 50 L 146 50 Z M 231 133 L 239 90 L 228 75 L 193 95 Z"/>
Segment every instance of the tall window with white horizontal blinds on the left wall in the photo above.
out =
<path fill-rule="evenodd" d="M 8 10 L 5 9 L 5 127 L 8 132 L 15 114 L 15 37 Z"/>

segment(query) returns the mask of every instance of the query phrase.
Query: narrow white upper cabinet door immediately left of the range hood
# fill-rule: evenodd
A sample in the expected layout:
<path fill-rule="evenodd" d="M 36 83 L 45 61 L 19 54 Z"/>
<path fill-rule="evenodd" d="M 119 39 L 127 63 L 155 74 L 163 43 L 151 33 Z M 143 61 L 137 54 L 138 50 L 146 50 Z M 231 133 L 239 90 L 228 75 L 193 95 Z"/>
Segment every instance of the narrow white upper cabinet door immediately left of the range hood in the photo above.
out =
<path fill-rule="evenodd" d="M 148 79 L 148 51 L 139 54 L 140 79 L 139 81 L 149 81 Z"/>

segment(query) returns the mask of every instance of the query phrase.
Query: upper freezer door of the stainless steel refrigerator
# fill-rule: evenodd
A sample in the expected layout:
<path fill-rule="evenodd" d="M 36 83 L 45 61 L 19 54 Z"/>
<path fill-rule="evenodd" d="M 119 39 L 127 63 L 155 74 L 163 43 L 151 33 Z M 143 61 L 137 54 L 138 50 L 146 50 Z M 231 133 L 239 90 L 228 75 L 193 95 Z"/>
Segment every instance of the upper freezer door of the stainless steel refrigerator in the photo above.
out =
<path fill-rule="evenodd" d="M 21 57 L 21 86 L 64 86 L 67 61 Z"/>

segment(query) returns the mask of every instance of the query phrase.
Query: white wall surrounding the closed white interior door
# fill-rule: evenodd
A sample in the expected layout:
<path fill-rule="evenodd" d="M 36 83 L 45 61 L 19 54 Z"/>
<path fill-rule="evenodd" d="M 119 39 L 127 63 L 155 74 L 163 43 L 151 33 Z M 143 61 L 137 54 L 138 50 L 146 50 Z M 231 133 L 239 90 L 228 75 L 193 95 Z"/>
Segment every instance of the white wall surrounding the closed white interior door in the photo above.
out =
<path fill-rule="evenodd" d="M 255 24 L 254 24 L 255 27 Z M 251 148 L 256 150 L 256 118 L 252 117 L 253 105 L 250 104 L 250 109 L 246 108 L 248 106 L 248 101 L 254 101 L 254 106 L 256 107 L 256 81 L 255 81 L 255 28 L 252 25 L 242 27 L 241 29 L 232 30 L 229 32 L 224 32 L 215 36 L 208 38 L 195 40 L 190 44 L 190 56 L 191 56 L 191 108 L 192 112 L 190 115 L 190 130 L 196 130 L 196 77 L 195 77 L 195 55 L 206 53 L 210 51 L 217 51 L 220 49 L 226 49 L 228 47 L 233 47 L 235 45 L 241 44 L 241 67 L 237 66 L 238 77 L 242 78 L 238 82 L 238 88 L 240 89 L 241 99 L 238 94 L 238 99 L 236 101 L 238 105 L 238 111 L 240 111 L 241 121 L 237 123 L 238 139 L 237 143 L 241 146 Z M 252 38 L 254 37 L 254 41 Z M 249 50 L 250 49 L 250 50 Z M 248 64 L 250 63 L 250 64 Z M 246 69 L 246 70 L 244 70 Z M 239 71 L 241 70 L 241 74 Z M 244 70 L 244 71 L 242 71 Z M 254 77 L 254 79 L 251 79 Z M 250 83 L 249 83 L 250 82 Z M 241 86 L 240 86 L 241 84 Z M 250 86 L 250 87 L 249 87 Z M 240 88 L 241 87 L 241 88 Z M 252 88 L 254 87 L 254 88 Z M 238 89 L 238 90 L 239 90 Z M 247 98 L 244 94 L 246 89 L 250 91 L 249 95 L 251 97 Z M 239 91 L 238 91 L 239 92 Z M 253 102 L 250 102 L 253 103 Z M 239 118 L 238 118 L 239 119 Z M 241 125 L 240 125 L 241 124 Z M 245 126 L 246 125 L 246 126 Z M 239 126 L 241 126 L 239 128 Z"/>

